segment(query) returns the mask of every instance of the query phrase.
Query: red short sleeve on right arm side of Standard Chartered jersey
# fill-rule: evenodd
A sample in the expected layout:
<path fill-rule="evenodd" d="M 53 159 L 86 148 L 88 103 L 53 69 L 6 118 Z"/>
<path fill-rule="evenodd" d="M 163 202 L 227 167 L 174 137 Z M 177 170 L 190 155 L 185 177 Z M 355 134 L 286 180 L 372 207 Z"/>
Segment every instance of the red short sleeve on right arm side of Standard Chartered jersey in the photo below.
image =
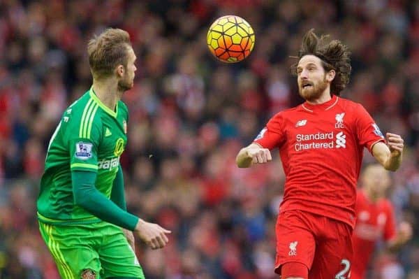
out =
<path fill-rule="evenodd" d="M 385 143 L 383 133 L 380 128 L 374 122 L 371 115 L 365 110 L 365 108 L 358 104 L 357 110 L 355 111 L 355 129 L 358 137 L 358 143 L 372 152 L 372 146 L 378 142 Z"/>

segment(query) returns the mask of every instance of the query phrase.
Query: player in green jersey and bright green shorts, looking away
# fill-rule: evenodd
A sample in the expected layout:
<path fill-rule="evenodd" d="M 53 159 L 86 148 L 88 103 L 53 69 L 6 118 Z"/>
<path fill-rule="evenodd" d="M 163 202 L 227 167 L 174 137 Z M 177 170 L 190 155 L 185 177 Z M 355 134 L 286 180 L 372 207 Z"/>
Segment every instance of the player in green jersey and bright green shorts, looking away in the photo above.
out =
<path fill-rule="evenodd" d="M 92 38 L 87 52 L 93 85 L 64 111 L 48 146 L 41 235 L 61 278 L 144 278 L 132 231 L 152 249 L 163 248 L 170 231 L 126 211 L 119 157 L 128 110 L 120 99 L 133 87 L 135 53 L 121 29 Z"/>

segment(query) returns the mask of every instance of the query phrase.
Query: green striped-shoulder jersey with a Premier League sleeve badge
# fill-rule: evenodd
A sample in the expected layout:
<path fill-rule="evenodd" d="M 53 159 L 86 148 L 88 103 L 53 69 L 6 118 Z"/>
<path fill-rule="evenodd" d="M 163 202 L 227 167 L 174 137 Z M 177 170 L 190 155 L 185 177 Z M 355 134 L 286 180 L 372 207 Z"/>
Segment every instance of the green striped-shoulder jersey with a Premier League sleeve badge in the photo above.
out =
<path fill-rule="evenodd" d="M 49 224 L 100 222 L 76 206 L 71 171 L 97 172 L 96 189 L 110 198 L 126 145 L 128 109 L 119 101 L 116 110 L 105 106 L 91 89 L 69 106 L 48 146 L 38 196 L 38 218 Z"/>

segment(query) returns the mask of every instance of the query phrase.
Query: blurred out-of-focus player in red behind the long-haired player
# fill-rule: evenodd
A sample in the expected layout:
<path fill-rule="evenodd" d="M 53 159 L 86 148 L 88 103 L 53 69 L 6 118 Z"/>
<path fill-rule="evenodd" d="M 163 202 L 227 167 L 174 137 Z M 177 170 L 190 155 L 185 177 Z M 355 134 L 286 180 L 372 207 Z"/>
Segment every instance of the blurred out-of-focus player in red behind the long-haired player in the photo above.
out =
<path fill-rule="evenodd" d="M 362 173 L 362 188 L 355 203 L 356 224 L 353 230 L 351 279 L 365 278 L 376 241 L 383 239 L 389 250 L 396 250 L 412 236 L 412 227 L 402 222 L 396 231 L 392 203 L 385 198 L 390 175 L 380 165 L 372 164 Z"/>

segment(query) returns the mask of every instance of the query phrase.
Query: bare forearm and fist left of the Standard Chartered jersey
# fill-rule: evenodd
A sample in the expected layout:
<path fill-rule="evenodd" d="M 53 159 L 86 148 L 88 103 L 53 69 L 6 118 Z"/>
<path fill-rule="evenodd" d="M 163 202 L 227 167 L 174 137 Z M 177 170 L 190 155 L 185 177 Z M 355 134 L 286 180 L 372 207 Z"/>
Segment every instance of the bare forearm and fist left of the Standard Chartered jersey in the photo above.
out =
<path fill-rule="evenodd" d="M 236 157 L 236 164 L 239 168 L 249 168 L 252 164 L 265 164 L 270 161 L 272 161 L 270 150 L 257 143 L 251 143 L 246 148 L 242 148 Z"/>

